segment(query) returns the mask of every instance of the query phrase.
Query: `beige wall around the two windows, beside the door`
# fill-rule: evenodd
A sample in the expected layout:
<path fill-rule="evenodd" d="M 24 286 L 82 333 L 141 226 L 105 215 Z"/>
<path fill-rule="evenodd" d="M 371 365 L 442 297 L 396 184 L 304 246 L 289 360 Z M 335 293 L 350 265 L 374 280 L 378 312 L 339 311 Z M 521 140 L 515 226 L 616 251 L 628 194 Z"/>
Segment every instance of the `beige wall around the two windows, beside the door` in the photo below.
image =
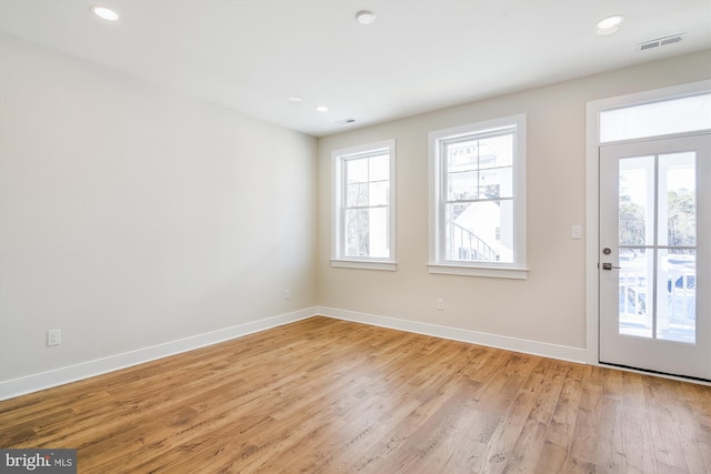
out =
<path fill-rule="evenodd" d="M 571 239 L 571 225 L 585 223 L 585 103 L 709 78 L 707 50 L 321 139 L 319 303 L 407 321 L 397 326 L 434 324 L 583 350 L 585 242 Z M 518 113 L 528 115 L 529 279 L 429 274 L 428 132 Z M 398 271 L 330 268 L 331 150 L 388 139 L 397 141 Z"/>

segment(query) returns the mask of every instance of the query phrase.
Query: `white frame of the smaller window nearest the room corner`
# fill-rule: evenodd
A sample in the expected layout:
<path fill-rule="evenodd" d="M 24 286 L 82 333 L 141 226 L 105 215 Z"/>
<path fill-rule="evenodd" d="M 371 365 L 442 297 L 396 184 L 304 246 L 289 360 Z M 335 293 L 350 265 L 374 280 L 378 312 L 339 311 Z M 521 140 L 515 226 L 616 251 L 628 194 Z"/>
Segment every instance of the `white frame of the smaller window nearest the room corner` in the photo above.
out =
<path fill-rule="evenodd" d="M 377 152 L 387 152 L 390 157 L 390 199 L 388 203 L 389 213 L 389 239 L 388 245 L 390 255 L 388 258 L 357 258 L 346 255 L 346 184 L 344 167 L 347 160 L 369 155 Z M 375 143 L 333 150 L 331 152 L 331 266 L 368 269 L 368 270 L 397 270 L 395 261 L 395 141 L 383 140 Z"/>

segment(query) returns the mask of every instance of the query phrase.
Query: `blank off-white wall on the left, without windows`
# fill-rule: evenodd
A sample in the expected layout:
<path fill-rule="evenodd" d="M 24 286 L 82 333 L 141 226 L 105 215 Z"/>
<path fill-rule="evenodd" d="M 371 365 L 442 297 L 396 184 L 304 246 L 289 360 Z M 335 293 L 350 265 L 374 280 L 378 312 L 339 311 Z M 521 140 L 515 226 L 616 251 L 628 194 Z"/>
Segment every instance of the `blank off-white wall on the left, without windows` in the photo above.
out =
<path fill-rule="evenodd" d="M 316 139 L 0 40 L 0 382 L 316 304 Z"/>

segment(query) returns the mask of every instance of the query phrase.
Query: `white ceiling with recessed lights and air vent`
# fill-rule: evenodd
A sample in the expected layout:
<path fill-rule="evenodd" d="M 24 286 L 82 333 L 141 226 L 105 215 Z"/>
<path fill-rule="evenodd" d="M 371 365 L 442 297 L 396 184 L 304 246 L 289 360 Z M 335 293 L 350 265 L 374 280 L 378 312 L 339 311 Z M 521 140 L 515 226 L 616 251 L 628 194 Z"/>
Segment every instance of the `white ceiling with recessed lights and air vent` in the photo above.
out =
<path fill-rule="evenodd" d="M 0 30 L 321 137 L 711 48 L 711 0 L 0 0 Z"/>

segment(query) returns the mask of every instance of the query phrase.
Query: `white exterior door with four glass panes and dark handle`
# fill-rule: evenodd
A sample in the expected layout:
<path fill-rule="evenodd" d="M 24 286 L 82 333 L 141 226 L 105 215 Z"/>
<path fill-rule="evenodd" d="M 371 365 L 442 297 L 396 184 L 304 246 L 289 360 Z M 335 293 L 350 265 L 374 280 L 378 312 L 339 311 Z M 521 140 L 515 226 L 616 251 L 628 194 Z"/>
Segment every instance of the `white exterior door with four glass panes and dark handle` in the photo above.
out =
<path fill-rule="evenodd" d="M 600 362 L 711 380 L 711 134 L 600 147 Z"/>

